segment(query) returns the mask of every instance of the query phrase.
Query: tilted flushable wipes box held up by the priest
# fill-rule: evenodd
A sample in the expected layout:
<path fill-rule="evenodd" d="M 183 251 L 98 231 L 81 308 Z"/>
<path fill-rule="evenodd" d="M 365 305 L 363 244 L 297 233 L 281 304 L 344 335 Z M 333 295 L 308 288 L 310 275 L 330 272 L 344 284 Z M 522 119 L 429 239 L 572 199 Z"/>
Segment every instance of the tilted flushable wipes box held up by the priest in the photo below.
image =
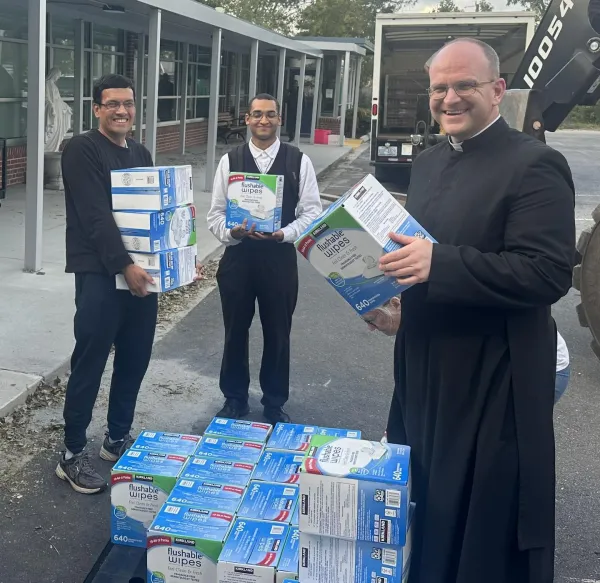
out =
<path fill-rule="evenodd" d="M 369 174 L 325 209 L 295 245 L 354 311 L 364 314 L 410 287 L 379 269 L 380 257 L 401 247 L 389 238 L 391 232 L 436 242 Z"/>

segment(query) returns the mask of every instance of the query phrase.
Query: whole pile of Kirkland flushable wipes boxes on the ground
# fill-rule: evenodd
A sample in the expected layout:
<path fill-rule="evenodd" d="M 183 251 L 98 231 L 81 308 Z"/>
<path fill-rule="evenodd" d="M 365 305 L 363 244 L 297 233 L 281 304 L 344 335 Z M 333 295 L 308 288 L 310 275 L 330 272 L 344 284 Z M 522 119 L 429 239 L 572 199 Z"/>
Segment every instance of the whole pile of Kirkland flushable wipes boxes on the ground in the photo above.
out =
<path fill-rule="evenodd" d="M 143 431 L 111 475 L 111 540 L 148 583 L 402 583 L 410 449 L 361 433 L 215 417 Z"/>

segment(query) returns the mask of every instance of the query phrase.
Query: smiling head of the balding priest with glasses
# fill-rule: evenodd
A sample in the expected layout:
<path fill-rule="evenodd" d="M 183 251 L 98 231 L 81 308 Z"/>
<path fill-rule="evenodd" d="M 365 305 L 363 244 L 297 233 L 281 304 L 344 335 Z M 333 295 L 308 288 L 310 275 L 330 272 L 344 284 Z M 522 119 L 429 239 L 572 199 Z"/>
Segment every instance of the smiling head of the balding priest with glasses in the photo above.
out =
<path fill-rule="evenodd" d="M 431 113 L 457 141 L 494 121 L 506 91 L 483 49 L 466 41 L 440 50 L 431 62 L 429 82 Z"/>

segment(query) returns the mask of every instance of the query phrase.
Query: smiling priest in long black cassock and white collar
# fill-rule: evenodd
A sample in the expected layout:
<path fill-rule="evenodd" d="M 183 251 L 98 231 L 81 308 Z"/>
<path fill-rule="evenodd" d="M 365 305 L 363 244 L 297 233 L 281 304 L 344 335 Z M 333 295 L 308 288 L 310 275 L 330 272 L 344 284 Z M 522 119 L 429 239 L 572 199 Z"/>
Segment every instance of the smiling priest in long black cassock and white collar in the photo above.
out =
<path fill-rule="evenodd" d="M 387 437 L 412 447 L 410 583 L 552 583 L 556 327 L 571 286 L 565 158 L 509 128 L 494 50 L 445 45 L 430 108 L 448 140 L 414 162 L 403 236 L 381 260 L 402 294 Z"/>

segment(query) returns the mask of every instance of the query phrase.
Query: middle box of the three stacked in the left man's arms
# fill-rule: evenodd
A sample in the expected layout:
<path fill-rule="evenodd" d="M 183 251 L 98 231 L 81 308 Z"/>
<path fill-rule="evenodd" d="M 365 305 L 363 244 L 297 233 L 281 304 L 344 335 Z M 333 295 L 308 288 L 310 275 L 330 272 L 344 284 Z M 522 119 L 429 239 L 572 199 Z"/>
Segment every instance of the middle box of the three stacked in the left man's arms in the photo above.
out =
<path fill-rule="evenodd" d="M 193 204 L 164 211 L 115 211 L 113 217 L 127 251 L 158 253 L 197 242 Z"/>

